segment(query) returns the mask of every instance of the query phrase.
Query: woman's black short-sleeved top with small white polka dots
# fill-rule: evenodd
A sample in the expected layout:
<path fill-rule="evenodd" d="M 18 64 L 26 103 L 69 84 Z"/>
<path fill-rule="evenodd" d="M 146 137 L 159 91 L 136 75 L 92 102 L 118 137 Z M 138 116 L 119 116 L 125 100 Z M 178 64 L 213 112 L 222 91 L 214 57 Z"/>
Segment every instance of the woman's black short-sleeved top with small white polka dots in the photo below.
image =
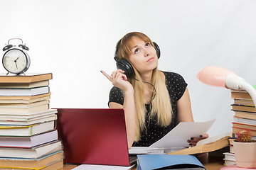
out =
<path fill-rule="evenodd" d="M 138 142 L 134 142 L 132 146 L 136 147 L 149 147 L 157 140 L 160 140 L 161 137 L 164 137 L 170 130 L 172 130 L 177 125 L 177 116 L 176 116 L 176 103 L 178 99 L 183 96 L 186 86 L 186 81 L 181 77 L 180 74 L 174 72 L 163 72 L 166 77 L 166 87 L 169 91 L 169 96 L 171 100 L 172 110 L 173 110 L 173 118 L 170 125 L 166 127 L 161 127 L 157 125 L 156 117 L 149 116 L 150 106 L 149 104 L 145 104 L 146 113 L 146 130 L 141 132 L 141 139 Z M 124 94 L 122 91 L 113 86 L 110 90 L 110 98 L 109 103 L 115 102 L 121 105 L 124 104 Z"/>

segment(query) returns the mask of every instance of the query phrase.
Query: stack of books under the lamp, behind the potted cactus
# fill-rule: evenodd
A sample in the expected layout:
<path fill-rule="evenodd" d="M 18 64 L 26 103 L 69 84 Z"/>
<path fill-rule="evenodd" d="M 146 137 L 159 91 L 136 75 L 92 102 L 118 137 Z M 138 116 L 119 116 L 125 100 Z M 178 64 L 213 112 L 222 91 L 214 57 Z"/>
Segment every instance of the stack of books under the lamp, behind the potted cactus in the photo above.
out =
<path fill-rule="evenodd" d="M 256 89 L 256 85 L 252 85 Z M 252 136 L 252 140 L 256 140 L 256 108 L 252 98 L 247 91 L 231 89 L 231 98 L 234 103 L 232 111 L 235 113 L 233 120 L 233 138 L 229 139 L 230 152 L 224 153 L 225 164 L 235 164 L 235 152 L 233 149 L 233 141 L 240 130 L 248 130 Z"/>

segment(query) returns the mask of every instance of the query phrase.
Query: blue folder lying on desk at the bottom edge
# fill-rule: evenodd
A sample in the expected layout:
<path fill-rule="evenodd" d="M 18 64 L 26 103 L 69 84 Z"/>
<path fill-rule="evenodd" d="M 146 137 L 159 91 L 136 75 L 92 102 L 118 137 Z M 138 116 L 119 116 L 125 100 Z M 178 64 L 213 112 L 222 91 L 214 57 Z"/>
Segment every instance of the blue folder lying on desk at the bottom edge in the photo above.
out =
<path fill-rule="evenodd" d="M 137 155 L 137 170 L 153 169 L 205 169 L 193 155 L 142 154 Z"/>

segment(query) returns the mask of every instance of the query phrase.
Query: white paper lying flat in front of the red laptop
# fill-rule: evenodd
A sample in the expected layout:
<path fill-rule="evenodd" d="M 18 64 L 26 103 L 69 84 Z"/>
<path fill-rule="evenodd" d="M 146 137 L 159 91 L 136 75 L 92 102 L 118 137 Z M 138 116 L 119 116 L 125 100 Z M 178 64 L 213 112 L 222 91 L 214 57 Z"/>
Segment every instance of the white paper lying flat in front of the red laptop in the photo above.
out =
<path fill-rule="evenodd" d="M 95 165 L 95 164 L 81 164 L 72 170 L 128 170 L 135 166 L 111 166 L 111 165 Z"/>

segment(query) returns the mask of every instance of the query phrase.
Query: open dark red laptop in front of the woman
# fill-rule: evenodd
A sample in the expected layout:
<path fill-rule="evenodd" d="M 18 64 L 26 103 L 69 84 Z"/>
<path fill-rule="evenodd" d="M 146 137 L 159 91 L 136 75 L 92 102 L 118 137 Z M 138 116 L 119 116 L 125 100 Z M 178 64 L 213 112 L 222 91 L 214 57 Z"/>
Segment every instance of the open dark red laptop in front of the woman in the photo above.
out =
<path fill-rule="evenodd" d="M 130 166 L 123 109 L 58 108 L 65 163 Z M 132 162 L 132 163 L 131 163 Z"/>

